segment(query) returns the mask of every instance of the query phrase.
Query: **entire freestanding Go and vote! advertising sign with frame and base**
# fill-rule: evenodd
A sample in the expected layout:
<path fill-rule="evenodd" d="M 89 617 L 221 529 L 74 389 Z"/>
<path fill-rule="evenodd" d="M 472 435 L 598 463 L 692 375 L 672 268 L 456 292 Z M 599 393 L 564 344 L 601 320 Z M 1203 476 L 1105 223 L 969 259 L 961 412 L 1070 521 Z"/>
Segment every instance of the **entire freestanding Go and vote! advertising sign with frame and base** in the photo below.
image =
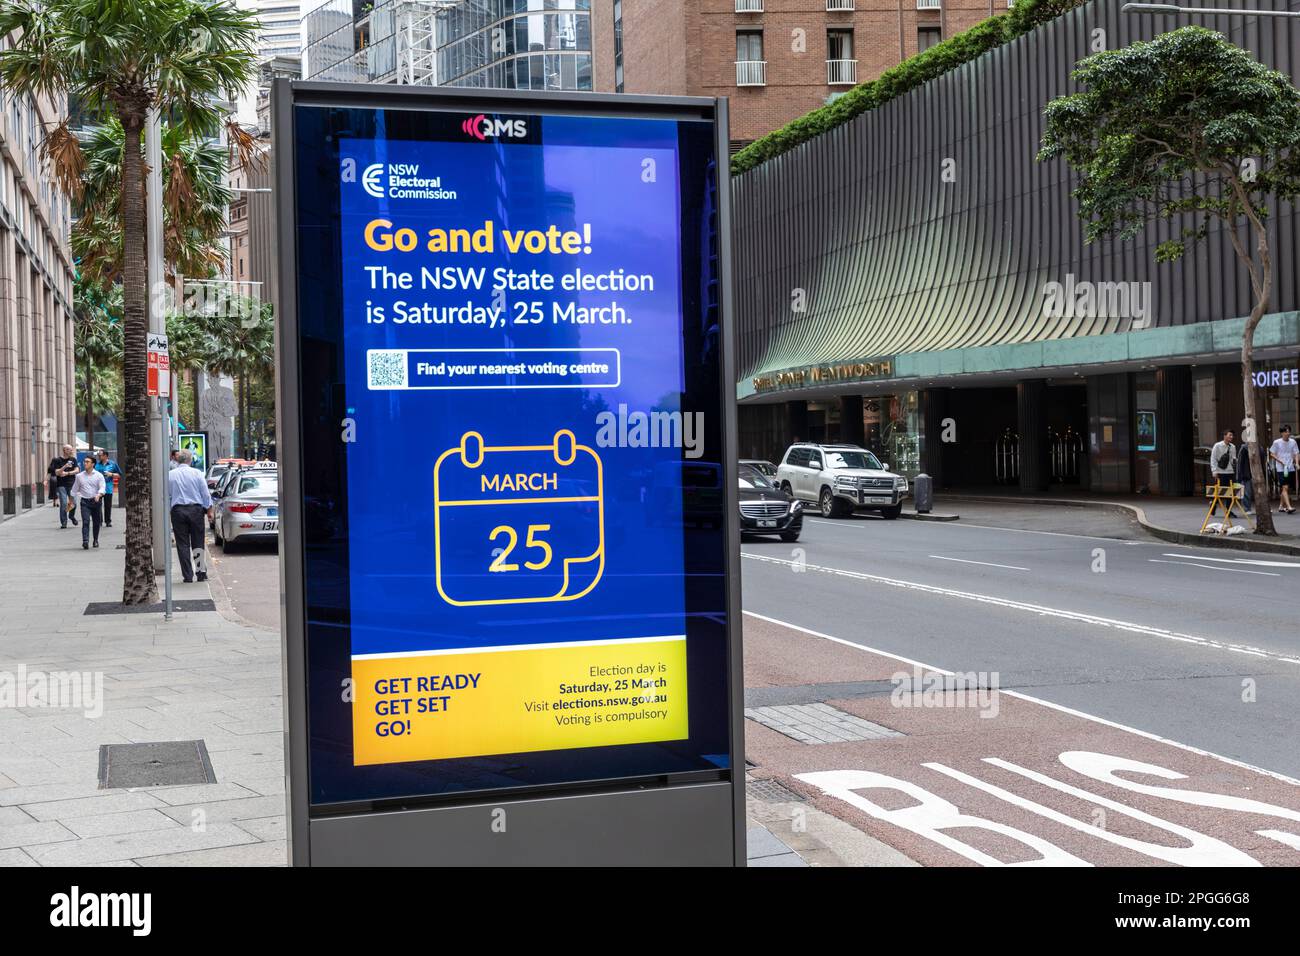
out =
<path fill-rule="evenodd" d="M 725 104 L 274 108 L 292 862 L 742 864 Z"/>

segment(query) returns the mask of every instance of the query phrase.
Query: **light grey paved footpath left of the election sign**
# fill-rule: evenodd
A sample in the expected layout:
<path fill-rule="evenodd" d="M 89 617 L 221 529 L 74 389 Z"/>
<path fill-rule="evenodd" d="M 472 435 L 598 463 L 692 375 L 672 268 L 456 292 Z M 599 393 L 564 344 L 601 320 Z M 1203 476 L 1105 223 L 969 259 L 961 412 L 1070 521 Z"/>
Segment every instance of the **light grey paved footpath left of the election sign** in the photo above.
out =
<path fill-rule="evenodd" d="M 88 551 L 49 507 L 0 523 L 0 866 L 283 865 L 280 637 L 216 611 L 86 615 L 121 600 L 116 516 Z M 176 597 L 208 588 L 178 574 Z M 90 696 L 16 706 L 40 671 L 88 672 Z M 217 782 L 99 788 L 100 744 L 164 740 L 203 740 Z"/>

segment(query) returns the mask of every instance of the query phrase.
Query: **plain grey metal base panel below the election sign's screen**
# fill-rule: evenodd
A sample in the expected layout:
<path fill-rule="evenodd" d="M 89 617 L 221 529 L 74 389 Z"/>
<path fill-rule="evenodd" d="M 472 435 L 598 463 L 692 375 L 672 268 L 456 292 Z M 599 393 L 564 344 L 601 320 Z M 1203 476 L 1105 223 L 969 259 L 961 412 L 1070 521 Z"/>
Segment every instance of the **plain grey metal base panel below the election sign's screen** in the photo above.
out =
<path fill-rule="evenodd" d="M 311 821 L 312 866 L 734 866 L 732 784 Z M 744 856 L 741 853 L 741 856 Z"/>

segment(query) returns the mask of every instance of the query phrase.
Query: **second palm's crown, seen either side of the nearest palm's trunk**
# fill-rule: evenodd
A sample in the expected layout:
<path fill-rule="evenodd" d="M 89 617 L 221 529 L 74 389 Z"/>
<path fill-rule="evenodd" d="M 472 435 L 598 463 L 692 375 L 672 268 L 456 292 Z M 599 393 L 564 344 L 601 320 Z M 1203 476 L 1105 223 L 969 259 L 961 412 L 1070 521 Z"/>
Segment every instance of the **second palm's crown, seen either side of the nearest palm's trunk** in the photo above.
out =
<path fill-rule="evenodd" d="M 84 165 L 73 252 L 100 286 L 121 281 L 122 155 L 117 118 L 81 135 Z M 168 277 L 207 276 L 225 263 L 221 233 L 230 190 L 226 150 L 179 124 L 162 124 L 162 261 Z"/>

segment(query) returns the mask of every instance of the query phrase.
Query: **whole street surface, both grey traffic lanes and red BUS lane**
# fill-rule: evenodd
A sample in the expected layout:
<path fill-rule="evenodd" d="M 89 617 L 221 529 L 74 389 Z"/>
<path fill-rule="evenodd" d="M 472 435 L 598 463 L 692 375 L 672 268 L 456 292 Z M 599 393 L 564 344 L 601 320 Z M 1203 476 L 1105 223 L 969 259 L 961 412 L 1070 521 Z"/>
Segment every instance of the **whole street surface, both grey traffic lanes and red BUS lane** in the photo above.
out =
<path fill-rule="evenodd" d="M 741 550 L 750 779 L 790 845 L 1300 864 L 1300 559 L 972 503 L 948 523 L 809 516 L 797 544 Z M 233 610 L 277 627 L 276 551 L 212 554 Z"/>

